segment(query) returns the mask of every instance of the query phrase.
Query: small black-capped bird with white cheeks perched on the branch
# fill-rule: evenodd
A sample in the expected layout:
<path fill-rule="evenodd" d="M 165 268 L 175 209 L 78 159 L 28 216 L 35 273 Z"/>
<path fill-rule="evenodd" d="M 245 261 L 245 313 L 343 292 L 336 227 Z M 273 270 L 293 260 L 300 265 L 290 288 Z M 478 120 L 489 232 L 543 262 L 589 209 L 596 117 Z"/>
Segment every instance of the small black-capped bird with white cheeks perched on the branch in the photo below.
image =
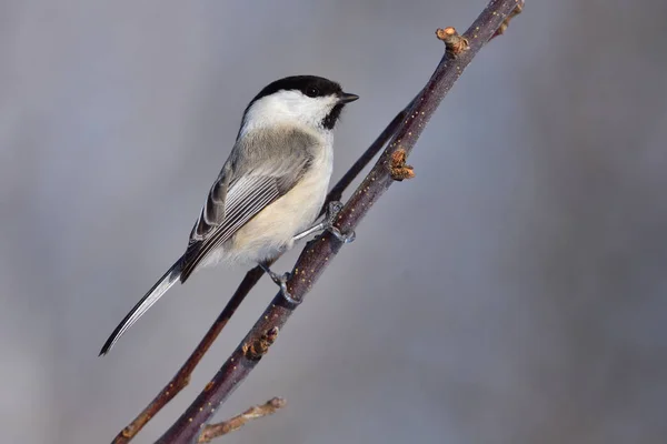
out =
<path fill-rule="evenodd" d="M 146 293 L 107 340 L 100 355 L 173 284 L 218 262 L 260 264 L 287 291 L 289 274 L 267 262 L 317 231 L 329 230 L 350 242 L 354 232 L 334 225 L 339 202 L 313 224 L 325 202 L 334 169 L 334 127 L 346 103 L 359 99 L 340 84 L 316 75 L 276 80 L 248 104 L 236 143 L 213 182 L 181 258 Z"/>

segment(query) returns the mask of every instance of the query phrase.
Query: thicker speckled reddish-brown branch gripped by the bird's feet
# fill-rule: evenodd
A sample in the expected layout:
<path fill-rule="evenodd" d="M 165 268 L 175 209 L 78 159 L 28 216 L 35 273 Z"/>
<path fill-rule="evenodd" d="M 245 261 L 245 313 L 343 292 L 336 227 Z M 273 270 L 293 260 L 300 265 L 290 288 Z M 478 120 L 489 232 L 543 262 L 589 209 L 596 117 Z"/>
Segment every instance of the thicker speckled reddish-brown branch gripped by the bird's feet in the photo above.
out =
<path fill-rule="evenodd" d="M 394 152 L 402 149 L 405 157 L 409 155 L 435 110 L 464 69 L 481 47 L 491 39 L 516 6 L 522 6 L 522 0 L 492 0 L 462 36 L 469 44 L 467 50 L 455 54 L 455 49 L 447 48 L 442 60 L 415 101 L 392 141 L 338 215 L 337 228 L 342 233 L 354 230 L 369 209 L 395 182 L 391 176 Z M 292 297 L 297 301 L 303 300 L 340 248 L 341 242 L 329 232 L 316 238 L 306 245 L 287 283 Z M 201 427 L 213 415 L 215 410 L 245 381 L 259 362 L 256 356 L 248 355 L 248 344 L 256 343 L 269 332 L 277 333 L 295 309 L 295 305 L 288 303 L 278 293 L 241 344 L 207 384 L 206 390 L 197 396 L 179 420 L 160 437 L 158 443 L 190 443 L 195 441 Z"/>

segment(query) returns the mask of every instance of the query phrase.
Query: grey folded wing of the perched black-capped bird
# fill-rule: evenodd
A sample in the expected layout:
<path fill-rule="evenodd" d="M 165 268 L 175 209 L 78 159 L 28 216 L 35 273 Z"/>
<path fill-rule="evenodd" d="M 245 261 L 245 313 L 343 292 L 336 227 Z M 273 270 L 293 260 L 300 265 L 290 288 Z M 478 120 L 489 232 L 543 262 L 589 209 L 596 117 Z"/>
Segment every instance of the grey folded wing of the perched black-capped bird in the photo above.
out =
<path fill-rule="evenodd" d="M 246 138 L 211 186 L 182 259 L 181 282 L 216 248 L 301 179 L 317 141 L 299 131 Z"/>

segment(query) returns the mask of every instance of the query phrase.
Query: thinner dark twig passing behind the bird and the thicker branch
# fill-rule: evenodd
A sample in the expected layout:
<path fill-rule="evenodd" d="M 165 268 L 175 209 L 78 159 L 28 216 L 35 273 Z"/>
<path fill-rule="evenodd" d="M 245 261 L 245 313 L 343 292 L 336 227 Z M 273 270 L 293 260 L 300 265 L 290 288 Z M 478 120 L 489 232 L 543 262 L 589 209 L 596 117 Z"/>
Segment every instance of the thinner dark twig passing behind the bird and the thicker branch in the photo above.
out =
<path fill-rule="evenodd" d="M 412 102 L 410 102 L 411 104 Z M 377 155 L 378 152 L 387 144 L 387 141 L 394 135 L 396 129 L 400 122 L 405 119 L 408 112 L 408 107 L 399 112 L 394 120 L 385 128 L 380 135 L 372 142 L 370 147 L 357 159 L 355 164 L 348 170 L 347 173 L 338 181 L 338 183 L 331 189 L 327 195 L 327 200 L 320 215 L 323 214 L 325 209 L 331 201 L 338 201 L 342 196 L 345 190 L 357 179 L 359 173 L 370 163 L 370 161 Z M 143 408 L 141 413 L 126 426 L 112 441 L 112 444 L 126 444 L 129 443 L 141 428 L 160 411 L 169 401 L 171 401 L 181 390 L 183 390 L 190 382 L 190 375 L 195 371 L 195 367 L 199 364 L 205 353 L 209 350 L 211 344 L 216 341 L 225 325 L 229 322 L 231 316 L 235 314 L 241 302 L 246 299 L 250 290 L 259 282 L 263 275 L 263 270 L 259 266 L 250 270 L 238 289 L 233 293 L 233 296 L 229 300 L 218 319 L 213 322 L 209 331 L 201 339 L 197 349 L 192 352 L 186 363 L 179 369 L 178 373 L 169 381 L 169 383 L 158 393 L 158 395 Z"/>

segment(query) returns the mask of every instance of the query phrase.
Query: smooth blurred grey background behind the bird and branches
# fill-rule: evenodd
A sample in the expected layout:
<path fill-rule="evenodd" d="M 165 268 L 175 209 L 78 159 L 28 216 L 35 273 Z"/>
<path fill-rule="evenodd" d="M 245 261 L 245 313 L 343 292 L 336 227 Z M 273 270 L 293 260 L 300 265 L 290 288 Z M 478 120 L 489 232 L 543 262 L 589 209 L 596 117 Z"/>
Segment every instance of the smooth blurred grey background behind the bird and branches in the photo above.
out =
<path fill-rule="evenodd" d="M 288 407 L 228 443 L 665 442 L 667 3 L 527 3 L 218 417 Z M 246 270 L 199 273 L 97 353 L 183 251 L 259 89 L 316 73 L 361 97 L 337 180 L 432 72 L 436 28 L 485 4 L 2 1 L 2 441 L 109 442 L 189 355 Z"/>

